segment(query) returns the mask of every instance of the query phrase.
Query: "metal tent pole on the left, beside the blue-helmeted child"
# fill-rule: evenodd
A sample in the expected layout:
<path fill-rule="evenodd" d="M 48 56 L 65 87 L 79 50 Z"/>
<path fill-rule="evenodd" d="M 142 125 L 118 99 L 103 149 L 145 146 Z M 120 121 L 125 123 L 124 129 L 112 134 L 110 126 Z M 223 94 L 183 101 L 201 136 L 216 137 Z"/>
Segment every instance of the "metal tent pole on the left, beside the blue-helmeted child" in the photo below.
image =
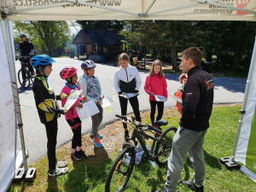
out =
<path fill-rule="evenodd" d="M 14 102 L 15 102 L 15 117 L 17 120 L 17 129 L 20 131 L 20 144 L 22 149 L 22 156 L 23 156 L 23 166 L 25 172 L 27 172 L 27 162 L 26 162 L 26 148 L 25 148 L 25 142 L 24 142 L 24 135 L 23 135 L 23 123 L 21 119 L 21 113 L 20 113 L 20 98 L 19 98 L 19 91 L 17 87 L 17 80 L 16 80 L 16 73 L 15 73 L 15 55 L 13 52 L 13 45 L 11 44 L 12 39 L 10 36 L 10 30 L 9 30 L 9 20 L 4 19 L 4 30 L 5 30 L 5 37 L 6 37 L 6 44 L 4 46 L 6 47 L 6 54 L 8 57 L 8 65 L 9 65 L 9 74 L 10 79 L 12 83 L 12 90 L 13 90 L 13 96 L 14 96 Z M 16 143 L 17 141 L 15 141 Z"/>

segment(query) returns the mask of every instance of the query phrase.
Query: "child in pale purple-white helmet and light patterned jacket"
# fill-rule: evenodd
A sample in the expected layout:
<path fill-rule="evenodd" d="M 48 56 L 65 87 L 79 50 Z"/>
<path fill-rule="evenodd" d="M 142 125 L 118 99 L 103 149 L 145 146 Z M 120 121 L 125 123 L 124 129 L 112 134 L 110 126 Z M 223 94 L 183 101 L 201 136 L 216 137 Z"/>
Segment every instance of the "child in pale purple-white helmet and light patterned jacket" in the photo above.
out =
<path fill-rule="evenodd" d="M 92 130 L 90 134 L 93 137 L 92 143 L 96 148 L 102 148 L 103 145 L 100 141 L 102 135 L 98 133 L 99 126 L 102 123 L 103 110 L 102 110 L 102 87 L 99 79 L 94 76 L 96 64 L 94 61 L 86 60 L 82 62 L 81 68 L 84 70 L 84 75 L 79 79 L 79 89 L 83 90 L 82 95 L 86 96 L 87 100 L 92 100 L 96 103 L 100 113 L 91 116 Z"/>

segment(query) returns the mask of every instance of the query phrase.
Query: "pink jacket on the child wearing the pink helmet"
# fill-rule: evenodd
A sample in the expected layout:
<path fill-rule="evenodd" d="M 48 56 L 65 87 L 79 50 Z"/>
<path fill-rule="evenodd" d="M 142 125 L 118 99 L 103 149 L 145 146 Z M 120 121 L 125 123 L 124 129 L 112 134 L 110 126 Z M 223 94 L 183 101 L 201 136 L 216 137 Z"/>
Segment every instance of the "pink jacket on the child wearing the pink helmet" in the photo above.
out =
<path fill-rule="evenodd" d="M 67 87 L 67 85 L 65 85 L 63 88 L 62 88 L 62 90 L 61 90 L 61 92 L 62 93 L 65 93 L 67 96 L 69 96 L 69 94 L 70 94 L 70 92 L 71 92 L 71 88 L 69 88 L 69 87 Z M 75 88 L 75 90 L 79 90 L 78 88 Z M 79 117 L 79 114 L 78 114 L 78 112 L 77 112 L 77 110 L 76 110 L 76 104 L 78 103 L 78 102 L 81 102 L 82 101 L 82 99 L 81 99 L 81 97 L 79 96 L 79 99 L 73 104 L 73 106 L 67 111 L 67 113 L 65 114 L 65 118 L 66 119 L 74 119 L 74 118 L 78 118 Z M 63 99 L 63 100 L 61 100 L 61 107 L 63 108 L 64 107 L 64 105 L 65 105 L 65 103 L 67 102 L 67 99 Z"/>

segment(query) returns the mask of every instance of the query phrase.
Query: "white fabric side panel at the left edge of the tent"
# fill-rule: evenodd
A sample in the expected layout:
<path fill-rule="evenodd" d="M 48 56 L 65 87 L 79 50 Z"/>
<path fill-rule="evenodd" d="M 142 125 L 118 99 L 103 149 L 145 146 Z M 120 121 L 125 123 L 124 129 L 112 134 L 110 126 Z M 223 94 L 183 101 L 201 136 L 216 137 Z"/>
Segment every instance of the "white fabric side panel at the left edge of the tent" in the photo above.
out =
<path fill-rule="evenodd" d="M 3 24 L 3 21 L 0 21 Z M 15 172 L 15 105 L 9 76 L 3 25 L 0 31 L 0 191 L 6 191 Z"/>

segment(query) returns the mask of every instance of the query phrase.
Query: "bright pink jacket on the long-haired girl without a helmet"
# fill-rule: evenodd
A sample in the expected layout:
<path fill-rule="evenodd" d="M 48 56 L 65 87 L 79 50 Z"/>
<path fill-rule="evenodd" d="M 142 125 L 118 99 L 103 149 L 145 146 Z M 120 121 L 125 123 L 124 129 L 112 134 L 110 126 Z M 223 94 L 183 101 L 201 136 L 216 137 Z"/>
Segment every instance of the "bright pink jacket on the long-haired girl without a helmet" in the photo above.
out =
<path fill-rule="evenodd" d="M 153 77 L 147 76 L 144 90 L 150 94 L 153 92 L 154 95 L 165 96 L 166 99 L 168 98 L 167 92 L 167 84 L 166 84 L 166 76 L 164 75 L 161 79 L 157 74 L 154 74 Z M 149 95 L 149 101 L 155 101 L 154 96 Z"/>

